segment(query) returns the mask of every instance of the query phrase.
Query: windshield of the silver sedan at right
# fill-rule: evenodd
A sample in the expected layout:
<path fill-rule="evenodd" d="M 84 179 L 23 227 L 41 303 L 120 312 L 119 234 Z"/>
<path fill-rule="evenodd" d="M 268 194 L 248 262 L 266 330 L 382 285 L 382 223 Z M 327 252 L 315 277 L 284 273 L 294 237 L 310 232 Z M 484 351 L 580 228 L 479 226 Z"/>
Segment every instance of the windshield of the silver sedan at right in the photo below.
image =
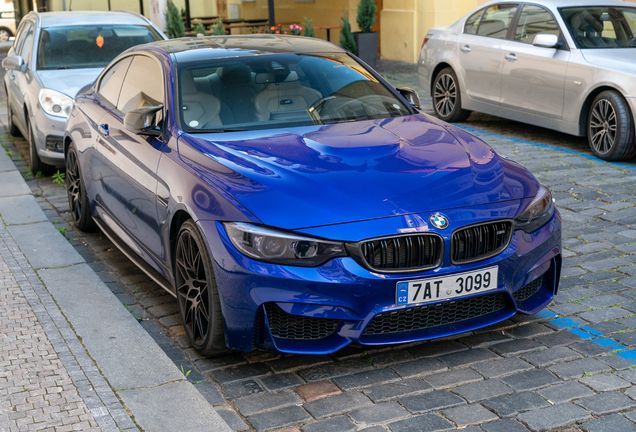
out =
<path fill-rule="evenodd" d="M 586 6 L 559 9 L 578 48 L 636 46 L 636 8 Z"/>

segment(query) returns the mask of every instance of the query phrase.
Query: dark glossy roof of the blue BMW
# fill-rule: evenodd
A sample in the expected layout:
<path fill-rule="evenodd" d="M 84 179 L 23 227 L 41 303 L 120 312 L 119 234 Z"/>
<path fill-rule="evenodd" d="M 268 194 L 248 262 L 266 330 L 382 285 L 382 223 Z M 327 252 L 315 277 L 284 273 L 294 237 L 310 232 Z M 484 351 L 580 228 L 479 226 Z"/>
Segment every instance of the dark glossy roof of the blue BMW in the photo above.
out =
<path fill-rule="evenodd" d="M 138 45 L 133 51 L 159 48 L 177 62 L 259 54 L 341 53 L 342 48 L 321 39 L 291 35 L 236 35 L 168 39 Z"/>

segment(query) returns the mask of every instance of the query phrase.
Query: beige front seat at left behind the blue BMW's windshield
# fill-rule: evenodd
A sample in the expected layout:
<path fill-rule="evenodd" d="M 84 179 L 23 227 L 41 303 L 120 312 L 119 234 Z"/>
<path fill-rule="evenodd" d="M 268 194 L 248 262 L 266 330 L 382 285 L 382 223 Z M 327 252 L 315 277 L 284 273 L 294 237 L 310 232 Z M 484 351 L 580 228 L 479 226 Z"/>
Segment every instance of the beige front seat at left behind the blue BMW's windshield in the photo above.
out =
<path fill-rule="evenodd" d="M 192 71 L 181 74 L 181 104 L 184 127 L 210 129 L 223 125 L 219 117 L 221 102 L 211 94 L 197 90 Z"/>

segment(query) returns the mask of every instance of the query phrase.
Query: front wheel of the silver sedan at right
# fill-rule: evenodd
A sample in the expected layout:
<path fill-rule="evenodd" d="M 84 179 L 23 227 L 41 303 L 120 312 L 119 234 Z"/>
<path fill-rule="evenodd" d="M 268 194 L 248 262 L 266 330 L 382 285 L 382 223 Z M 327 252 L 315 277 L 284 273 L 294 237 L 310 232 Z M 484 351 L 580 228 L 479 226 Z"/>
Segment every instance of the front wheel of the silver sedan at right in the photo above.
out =
<path fill-rule="evenodd" d="M 604 160 L 627 160 L 634 157 L 634 126 L 629 106 L 616 91 L 600 93 L 590 106 L 587 140 L 594 154 Z"/>

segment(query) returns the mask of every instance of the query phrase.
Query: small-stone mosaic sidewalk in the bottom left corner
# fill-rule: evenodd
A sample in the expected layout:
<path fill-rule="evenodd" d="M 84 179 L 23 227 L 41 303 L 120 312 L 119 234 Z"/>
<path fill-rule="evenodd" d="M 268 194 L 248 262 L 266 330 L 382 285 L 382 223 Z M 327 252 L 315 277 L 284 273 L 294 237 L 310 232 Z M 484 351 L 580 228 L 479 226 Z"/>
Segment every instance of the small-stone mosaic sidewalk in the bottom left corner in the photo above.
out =
<path fill-rule="evenodd" d="M 138 431 L 4 226 L 0 431 Z"/>

